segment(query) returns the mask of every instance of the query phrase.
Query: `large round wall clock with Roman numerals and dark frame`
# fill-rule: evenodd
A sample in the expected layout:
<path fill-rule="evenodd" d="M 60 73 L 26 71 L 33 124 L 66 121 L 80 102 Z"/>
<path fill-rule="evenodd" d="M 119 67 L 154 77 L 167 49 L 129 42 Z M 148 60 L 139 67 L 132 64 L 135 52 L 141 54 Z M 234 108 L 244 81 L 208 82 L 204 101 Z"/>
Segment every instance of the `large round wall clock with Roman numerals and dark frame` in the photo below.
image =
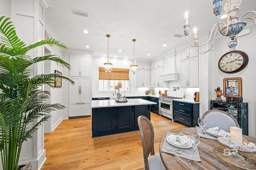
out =
<path fill-rule="evenodd" d="M 224 73 L 236 73 L 248 64 L 248 55 L 243 51 L 229 51 L 219 60 L 219 68 Z"/>

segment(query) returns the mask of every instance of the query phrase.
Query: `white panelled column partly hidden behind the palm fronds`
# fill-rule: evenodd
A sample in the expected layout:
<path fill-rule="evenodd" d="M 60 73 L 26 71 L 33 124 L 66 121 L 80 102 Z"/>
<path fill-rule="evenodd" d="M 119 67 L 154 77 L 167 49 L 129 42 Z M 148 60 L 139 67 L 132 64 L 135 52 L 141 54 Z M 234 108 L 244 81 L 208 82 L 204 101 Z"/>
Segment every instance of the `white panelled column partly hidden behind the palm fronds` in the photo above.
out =
<path fill-rule="evenodd" d="M 45 8 L 40 0 L 11 0 L 9 5 L 10 7 L 6 8 L 10 8 L 10 17 L 16 27 L 18 37 L 27 45 L 43 40 Z M 28 51 L 27 55 L 43 56 L 43 50 L 43 47 L 38 47 Z M 42 64 L 36 65 L 34 75 L 42 73 L 43 69 Z M 23 143 L 19 165 L 32 162 L 32 170 L 38 170 L 44 164 L 45 159 L 44 128 L 39 127 L 33 134 L 33 138 Z"/>

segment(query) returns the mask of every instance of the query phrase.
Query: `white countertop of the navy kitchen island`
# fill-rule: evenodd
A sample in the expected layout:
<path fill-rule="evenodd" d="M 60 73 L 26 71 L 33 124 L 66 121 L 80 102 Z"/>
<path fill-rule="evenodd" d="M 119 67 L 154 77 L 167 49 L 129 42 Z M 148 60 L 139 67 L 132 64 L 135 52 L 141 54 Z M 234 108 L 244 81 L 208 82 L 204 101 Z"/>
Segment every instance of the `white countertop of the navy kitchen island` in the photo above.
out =
<path fill-rule="evenodd" d="M 155 105 L 156 102 L 147 101 L 144 99 L 129 99 L 128 102 L 118 103 L 114 99 L 111 100 L 93 100 L 92 108 L 100 107 L 120 107 L 120 106 L 135 106 L 135 105 Z"/>

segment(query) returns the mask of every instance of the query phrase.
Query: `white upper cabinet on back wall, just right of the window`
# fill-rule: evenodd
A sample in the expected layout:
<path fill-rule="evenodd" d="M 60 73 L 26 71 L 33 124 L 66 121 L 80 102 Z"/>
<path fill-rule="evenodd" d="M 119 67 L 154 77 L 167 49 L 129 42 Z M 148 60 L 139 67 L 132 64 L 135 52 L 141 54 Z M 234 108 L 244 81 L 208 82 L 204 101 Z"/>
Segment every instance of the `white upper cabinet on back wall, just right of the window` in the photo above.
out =
<path fill-rule="evenodd" d="M 145 69 L 138 69 L 136 73 L 136 87 L 150 86 L 150 71 Z"/>

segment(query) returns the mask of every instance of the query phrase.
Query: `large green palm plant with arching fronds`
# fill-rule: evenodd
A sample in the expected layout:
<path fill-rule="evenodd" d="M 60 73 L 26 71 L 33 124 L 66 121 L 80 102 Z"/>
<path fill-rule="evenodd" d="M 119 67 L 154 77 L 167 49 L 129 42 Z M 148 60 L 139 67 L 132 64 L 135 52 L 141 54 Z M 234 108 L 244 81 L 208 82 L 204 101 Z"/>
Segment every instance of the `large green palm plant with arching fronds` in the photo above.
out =
<path fill-rule="evenodd" d="M 33 66 L 42 61 L 54 61 L 62 67 L 70 65 L 57 55 L 30 57 L 26 53 L 40 45 L 66 46 L 54 39 L 26 45 L 16 35 L 10 18 L 0 18 L 0 152 L 4 170 L 17 170 L 22 143 L 50 118 L 48 113 L 65 107 L 59 103 L 45 103 L 50 97 L 42 85 L 54 88 L 56 78 L 72 80 L 60 74 L 33 76 Z"/>

